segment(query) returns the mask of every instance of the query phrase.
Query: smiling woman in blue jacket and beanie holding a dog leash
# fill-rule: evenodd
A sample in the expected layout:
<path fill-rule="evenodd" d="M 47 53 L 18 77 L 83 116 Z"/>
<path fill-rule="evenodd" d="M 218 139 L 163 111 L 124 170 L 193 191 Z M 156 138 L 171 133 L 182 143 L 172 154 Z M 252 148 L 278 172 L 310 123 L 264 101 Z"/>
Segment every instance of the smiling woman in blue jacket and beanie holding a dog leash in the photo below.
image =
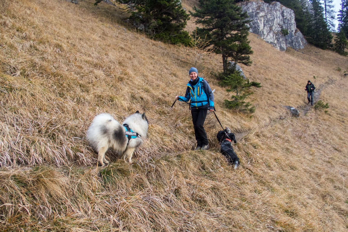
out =
<path fill-rule="evenodd" d="M 207 133 L 204 130 L 204 121 L 207 111 L 214 111 L 214 94 L 208 82 L 198 76 L 197 68 L 190 68 L 189 76 L 191 80 L 187 83 L 185 97 L 176 96 L 179 101 L 190 101 L 193 128 L 197 140 L 195 150 L 207 150 L 209 148 Z"/>

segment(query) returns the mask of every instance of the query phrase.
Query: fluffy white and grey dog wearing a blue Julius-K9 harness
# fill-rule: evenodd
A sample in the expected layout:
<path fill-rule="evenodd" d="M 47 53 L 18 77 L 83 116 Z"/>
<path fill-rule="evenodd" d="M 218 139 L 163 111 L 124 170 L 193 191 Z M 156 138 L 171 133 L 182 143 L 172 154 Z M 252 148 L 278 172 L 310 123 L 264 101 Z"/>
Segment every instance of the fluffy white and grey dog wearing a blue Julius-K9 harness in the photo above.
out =
<path fill-rule="evenodd" d="M 134 151 L 139 149 L 149 128 L 148 119 L 137 110 L 129 115 L 122 125 L 110 114 L 99 114 L 95 116 L 87 131 L 87 139 L 98 152 L 98 161 L 103 166 L 109 161 L 105 159 L 105 152 L 112 148 L 122 159 L 128 158 L 132 163 Z"/>

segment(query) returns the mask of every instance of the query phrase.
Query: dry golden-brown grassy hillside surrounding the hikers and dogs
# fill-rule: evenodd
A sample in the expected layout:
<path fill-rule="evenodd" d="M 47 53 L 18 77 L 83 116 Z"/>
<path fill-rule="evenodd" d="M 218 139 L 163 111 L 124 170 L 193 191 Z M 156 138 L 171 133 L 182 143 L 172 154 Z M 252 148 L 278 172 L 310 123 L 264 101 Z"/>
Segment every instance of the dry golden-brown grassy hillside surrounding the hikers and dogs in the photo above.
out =
<path fill-rule="evenodd" d="M 223 108 L 229 95 L 209 74 L 220 57 L 205 55 L 198 70 L 217 115 L 247 132 L 234 170 L 214 115 L 212 148 L 191 151 L 188 107 L 170 108 L 189 80 L 187 49 L 136 33 L 120 14 L 93 1 L 0 3 L 1 231 L 348 230 L 347 57 L 311 45 L 280 52 L 250 34 L 253 64 L 242 68 L 263 87 L 249 118 Z M 307 80 L 329 111 L 292 118 L 282 106 L 307 105 Z M 108 152 L 112 164 L 97 167 L 85 140 L 93 117 L 136 110 L 150 126 L 133 164 Z"/>

